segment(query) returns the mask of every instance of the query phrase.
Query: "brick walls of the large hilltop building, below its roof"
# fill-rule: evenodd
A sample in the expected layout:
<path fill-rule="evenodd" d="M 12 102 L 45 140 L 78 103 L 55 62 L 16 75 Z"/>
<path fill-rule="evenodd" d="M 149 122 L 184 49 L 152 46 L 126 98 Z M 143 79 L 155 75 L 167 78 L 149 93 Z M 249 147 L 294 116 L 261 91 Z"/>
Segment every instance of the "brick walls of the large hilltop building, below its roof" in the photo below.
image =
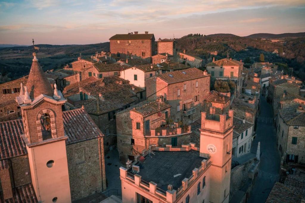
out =
<path fill-rule="evenodd" d="M 138 40 L 110 40 L 110 52 L 116 54 L 124 53 L 136 55 L 142 58 L 147 58 L 155 55 L 155 39 L 138 39 Z M 117 43 L 120 41 L 120 43 Z M 128 43 L 131 41 L 131 43 Z M 142 43 L 144 41 L 144 43 Z M 145 52 L 145 56 L 142 56 L 142 52 Z"/>

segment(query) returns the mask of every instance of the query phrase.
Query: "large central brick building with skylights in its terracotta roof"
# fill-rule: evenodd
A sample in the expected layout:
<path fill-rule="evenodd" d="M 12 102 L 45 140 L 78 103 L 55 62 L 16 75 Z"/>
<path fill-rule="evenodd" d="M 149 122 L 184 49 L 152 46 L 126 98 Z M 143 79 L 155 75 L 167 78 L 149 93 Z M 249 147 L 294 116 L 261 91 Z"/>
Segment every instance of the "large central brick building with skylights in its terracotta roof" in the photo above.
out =
<path fill-rule="evenodd" d="M 163 73 L 145 83 L 147 99 L 163 97 L 172 106 L 171 119 L 184 124 L 200 118 L 203 101 L 210 92 L 210 75 L 197 68 Z"/>

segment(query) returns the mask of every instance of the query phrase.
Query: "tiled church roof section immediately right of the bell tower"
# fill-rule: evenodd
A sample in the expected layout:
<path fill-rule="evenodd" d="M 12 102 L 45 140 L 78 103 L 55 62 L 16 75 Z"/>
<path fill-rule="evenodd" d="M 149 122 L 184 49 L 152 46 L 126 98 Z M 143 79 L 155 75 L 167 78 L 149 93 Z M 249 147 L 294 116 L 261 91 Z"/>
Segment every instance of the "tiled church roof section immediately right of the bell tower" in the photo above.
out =
<path fill-rule="evenodd" d="M 68 136 L 66 144 L 104 136 L 84 109 L 64 111 L 63 125 L 65 134 Z"/>

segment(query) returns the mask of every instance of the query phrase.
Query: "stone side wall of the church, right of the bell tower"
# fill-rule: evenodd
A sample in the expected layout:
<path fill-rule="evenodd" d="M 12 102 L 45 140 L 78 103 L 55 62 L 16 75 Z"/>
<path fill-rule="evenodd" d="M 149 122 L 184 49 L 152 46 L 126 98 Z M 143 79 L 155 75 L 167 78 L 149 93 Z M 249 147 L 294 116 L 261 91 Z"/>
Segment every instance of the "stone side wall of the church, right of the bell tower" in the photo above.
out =
<path fill-rule="evenodd" d="M 106 189 L 104 154 L 99 146 L 103 143 L 99 140 L 66 145 L 72 201 Z"/>

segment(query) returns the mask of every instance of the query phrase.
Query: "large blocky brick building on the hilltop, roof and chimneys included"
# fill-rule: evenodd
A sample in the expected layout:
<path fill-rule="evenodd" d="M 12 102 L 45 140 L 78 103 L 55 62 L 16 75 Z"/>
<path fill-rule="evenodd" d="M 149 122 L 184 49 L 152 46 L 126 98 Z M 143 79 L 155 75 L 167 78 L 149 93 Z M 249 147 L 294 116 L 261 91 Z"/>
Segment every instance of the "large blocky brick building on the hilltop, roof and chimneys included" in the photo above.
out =
<path fill-rule="evenodd" d="M 116 34 L 109 38 L 111 53 L 124 53 L 128 56 L 136 55 L 141 58 L 150 58 L 155 55 L 154 34 Z"/>

